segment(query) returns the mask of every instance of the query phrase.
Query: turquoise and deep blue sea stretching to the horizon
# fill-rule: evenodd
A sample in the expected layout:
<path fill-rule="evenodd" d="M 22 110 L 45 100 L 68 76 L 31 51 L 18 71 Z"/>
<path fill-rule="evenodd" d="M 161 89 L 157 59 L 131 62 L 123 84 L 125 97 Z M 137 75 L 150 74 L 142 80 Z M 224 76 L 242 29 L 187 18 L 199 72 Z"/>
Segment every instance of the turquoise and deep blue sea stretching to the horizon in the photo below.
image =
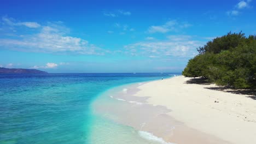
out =
<path fill-rule="evenodd" d="M 164 143 L 91 104 L 110 88 L 180 74 L 0 74 L 0 143 Z"/>

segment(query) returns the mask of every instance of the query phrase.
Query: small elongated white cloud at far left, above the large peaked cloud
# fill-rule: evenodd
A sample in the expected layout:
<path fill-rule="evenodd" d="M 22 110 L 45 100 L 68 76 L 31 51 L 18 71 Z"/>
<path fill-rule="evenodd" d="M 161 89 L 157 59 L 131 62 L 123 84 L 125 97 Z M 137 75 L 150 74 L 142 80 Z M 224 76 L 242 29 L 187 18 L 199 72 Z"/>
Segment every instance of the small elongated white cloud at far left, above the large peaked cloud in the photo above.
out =
<path fill-rule="evenodd" d="M 4 23 L 7 23 L 10 26 L 26 26 L 29 28 L 40 27 L 39 23 L 37 23 L 37 22 L 15 22 L 16 21 L 15 19 L 13 19 L 11 17 L 7 17 L 7 16 L 2 17 L 2 20 Z"/>

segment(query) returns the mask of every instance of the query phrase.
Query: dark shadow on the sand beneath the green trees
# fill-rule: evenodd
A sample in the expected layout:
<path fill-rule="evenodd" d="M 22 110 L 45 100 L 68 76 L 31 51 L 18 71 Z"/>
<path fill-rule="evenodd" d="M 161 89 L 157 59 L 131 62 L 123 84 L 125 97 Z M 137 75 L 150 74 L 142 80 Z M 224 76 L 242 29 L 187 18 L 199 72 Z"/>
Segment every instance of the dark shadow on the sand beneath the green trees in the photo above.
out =
<path fill-rule="evenodd" d="M 207 79 L 202 77 L 192 78 L 185 83 L 188 84 L 197 84 L 197 85 L 210 85 L 211 83 L 207 81 Z M 256 100 L 256 89 L 234 89 L 231 87 L 206 87 L 207 89 L 212 89 L 215 91 L 223 91 L 228 93 L 235 93 L 235 94 L 243 94 L 248 95 L 247 97 Z"/>

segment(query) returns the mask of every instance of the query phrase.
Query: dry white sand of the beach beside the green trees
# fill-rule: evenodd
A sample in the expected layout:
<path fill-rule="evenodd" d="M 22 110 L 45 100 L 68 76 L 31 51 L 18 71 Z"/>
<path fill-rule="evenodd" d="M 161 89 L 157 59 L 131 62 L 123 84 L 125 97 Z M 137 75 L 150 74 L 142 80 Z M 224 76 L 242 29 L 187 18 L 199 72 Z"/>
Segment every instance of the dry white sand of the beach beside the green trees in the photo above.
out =
<path fill-rule="evenodd" d="M 177 76 L 144 83 L 133 96 L 166 107 L 167 115 L 202 133 L 230 143 L 256 143 L 256 100 L 188 80 Z"/>

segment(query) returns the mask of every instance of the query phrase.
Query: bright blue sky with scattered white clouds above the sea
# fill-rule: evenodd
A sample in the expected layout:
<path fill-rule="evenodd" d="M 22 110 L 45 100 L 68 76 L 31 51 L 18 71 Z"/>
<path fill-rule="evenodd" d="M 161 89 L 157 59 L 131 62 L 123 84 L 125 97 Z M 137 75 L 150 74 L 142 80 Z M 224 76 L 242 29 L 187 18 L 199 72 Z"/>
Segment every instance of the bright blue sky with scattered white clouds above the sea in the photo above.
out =
<path fill-rule="evenodd" d="M 49 73 L 181 72 L 197 47 L 256 34 L 256 1 L 0 3 L 0 67 Z"/>

